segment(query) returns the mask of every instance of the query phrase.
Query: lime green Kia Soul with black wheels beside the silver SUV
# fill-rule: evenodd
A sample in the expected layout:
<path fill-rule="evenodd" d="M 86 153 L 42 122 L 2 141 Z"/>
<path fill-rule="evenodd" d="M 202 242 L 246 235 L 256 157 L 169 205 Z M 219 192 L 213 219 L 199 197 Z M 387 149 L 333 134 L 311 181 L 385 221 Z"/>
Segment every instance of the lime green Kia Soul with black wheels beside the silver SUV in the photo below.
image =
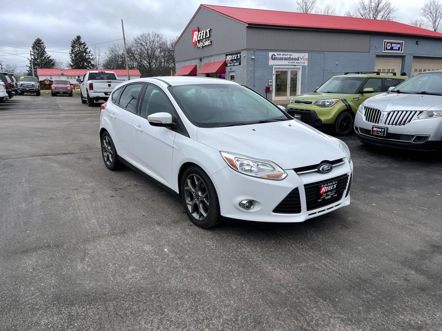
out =
<path fill-rule="evenodd" d="M 331 128 L 336 135 L 348 135 L 359 105 L 373 95 L 387 92 L 407 76 L 396 72 L 346 72 L 334 76 L 314 92 L 290 100 L 286 111 L 316 128 Z"/>

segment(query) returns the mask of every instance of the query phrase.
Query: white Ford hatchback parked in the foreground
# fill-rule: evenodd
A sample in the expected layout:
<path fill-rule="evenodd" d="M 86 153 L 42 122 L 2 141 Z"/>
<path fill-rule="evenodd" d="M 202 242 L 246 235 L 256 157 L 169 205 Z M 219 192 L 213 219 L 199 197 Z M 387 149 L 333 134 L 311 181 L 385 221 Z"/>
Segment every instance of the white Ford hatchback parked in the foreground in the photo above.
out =
<path fill-rule="evenodd" d="M 201 77 L 120 84 L 100 113 L 103 160 L 179 195 L 194 224 L 221 216 L 303 222 L 350 204 L 345 143 L 238 83 Z"/>

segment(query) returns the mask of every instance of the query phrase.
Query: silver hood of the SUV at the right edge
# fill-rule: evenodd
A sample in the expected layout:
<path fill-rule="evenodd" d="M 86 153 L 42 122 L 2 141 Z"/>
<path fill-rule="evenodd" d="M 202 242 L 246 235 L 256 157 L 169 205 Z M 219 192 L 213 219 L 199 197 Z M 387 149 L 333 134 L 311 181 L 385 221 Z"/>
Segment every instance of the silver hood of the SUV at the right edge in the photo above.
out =
<path fill-rule="evenodd" d="M 382 111 L 422 111 L 433 107 L 437 108 L 437 110 L 441 110 L 442 96 L 426 94 L 384 93 L 367 99 L 364 102 L 364 106 L 380 109 Z"/>

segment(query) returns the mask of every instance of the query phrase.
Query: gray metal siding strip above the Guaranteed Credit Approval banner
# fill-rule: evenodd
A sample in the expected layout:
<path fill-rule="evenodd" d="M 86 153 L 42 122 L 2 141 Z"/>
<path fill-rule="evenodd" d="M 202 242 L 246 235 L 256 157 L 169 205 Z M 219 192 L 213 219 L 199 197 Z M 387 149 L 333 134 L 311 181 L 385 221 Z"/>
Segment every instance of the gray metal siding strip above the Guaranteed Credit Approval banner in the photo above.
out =
<path fill-rule="evenodd" d="M 248 26 L 246 35 L 248 49 L 370 52 L 370 34 Z"/>

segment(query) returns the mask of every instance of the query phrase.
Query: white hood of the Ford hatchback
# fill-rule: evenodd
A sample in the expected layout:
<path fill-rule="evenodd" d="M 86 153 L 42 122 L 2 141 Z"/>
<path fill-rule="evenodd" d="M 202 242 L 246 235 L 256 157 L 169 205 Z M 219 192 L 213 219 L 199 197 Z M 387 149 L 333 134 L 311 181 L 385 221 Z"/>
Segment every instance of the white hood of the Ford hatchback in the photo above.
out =
<path fill-rule="evenodd" d="M 283 169 L 346 156 L 339 147 L 339 139 L 298 120 L 198 128 L 197 140 L 216 150 L 273 161 Z"/>

